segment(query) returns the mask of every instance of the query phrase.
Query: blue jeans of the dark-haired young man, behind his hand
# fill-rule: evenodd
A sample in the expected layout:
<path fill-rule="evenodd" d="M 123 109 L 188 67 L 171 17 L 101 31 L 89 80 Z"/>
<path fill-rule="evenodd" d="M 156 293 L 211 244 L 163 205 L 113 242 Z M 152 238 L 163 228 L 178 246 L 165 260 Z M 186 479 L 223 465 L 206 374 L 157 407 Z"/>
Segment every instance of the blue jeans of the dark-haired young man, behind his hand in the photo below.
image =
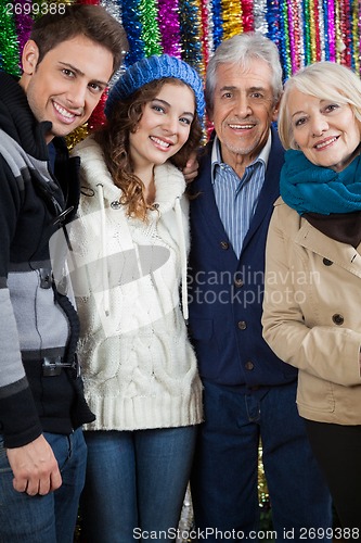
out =
<path fill-rule="evenodd" d="M 73 543 L 83 487 L 87 446 L 81 429 L 44 433 L 56 457 L 62 485 L 46 496 L 13 489 L 13 472 L 0 435 L 0 543 Z"/>

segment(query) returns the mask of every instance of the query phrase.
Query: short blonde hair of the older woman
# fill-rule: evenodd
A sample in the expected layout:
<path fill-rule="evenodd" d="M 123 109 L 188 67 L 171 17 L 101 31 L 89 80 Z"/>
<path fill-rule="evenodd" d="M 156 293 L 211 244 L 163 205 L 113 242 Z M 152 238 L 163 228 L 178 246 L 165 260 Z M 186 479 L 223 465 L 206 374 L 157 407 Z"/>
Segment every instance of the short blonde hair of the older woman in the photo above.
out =
<path fill-rule="evenodd" d="M 293 90 L 304 94 L 349 104 L 361 123 L 361 80 L 349 68 L 334 62 L 315 62 L 293 75 L 284 86 L 279 111 L 279 134 L 285 149 L 297 149 L 293 124 L 288 111 L 288 100 Z"/>

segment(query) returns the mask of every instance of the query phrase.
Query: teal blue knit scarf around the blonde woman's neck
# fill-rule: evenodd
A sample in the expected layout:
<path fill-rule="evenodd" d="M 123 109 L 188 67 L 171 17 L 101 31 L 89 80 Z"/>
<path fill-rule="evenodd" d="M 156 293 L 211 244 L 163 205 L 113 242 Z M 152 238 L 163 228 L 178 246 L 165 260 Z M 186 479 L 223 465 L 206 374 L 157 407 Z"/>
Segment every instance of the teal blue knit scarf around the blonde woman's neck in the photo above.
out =
<path fill-rule="evenodd" d="M 280 190 L 284 202 L 299 215 L 361 211 L 361 156 L 334 172 L 315 166 L 300 151 L 286 151 Z"/>

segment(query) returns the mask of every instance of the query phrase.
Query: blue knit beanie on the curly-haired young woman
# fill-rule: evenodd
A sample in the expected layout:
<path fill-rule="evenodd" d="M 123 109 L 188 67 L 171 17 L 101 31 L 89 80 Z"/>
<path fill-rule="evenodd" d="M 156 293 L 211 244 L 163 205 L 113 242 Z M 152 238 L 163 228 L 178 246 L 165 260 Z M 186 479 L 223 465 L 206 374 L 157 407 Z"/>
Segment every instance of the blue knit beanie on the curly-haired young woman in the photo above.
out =
<path fill-rule="evenodd" d="M 118 100 L 124 100 L 143 87 L 143 85 L 156 79 L 163 79 L 164 77 L 181 79 L 191 87 L 195 96 L 197 115 L 202 123 L 205 111 L 202 79 L 196 71 L 186 64 L 186 62 L 176 59 L 176 56 L 169 56 L 169 54 L 162 54 L 160 56 L 154 54 L 129 66 L 109 91 L 104 110 L 105 115 L 109 116 L 111 111 Z"/>

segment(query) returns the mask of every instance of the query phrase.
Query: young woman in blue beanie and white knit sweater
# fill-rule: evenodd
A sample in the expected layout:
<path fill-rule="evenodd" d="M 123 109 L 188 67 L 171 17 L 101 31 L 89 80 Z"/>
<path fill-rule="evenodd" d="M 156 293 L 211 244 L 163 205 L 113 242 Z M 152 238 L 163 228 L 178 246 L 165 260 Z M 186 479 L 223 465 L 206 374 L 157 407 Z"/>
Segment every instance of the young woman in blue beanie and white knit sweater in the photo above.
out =
<path fill-rule="evenodd" d="M 180 171 L 202 137 L 202 80 L 176 58 L 144 59 L 112 88 L 105 113 L 105 127 L 75 150 L 83 186 L 72 237 L 79 358 L 96 416 L 86 427 L 85 539 L 129 543 L 152 532 L 171 541 L 203 418 L 184 321 Z"/>

